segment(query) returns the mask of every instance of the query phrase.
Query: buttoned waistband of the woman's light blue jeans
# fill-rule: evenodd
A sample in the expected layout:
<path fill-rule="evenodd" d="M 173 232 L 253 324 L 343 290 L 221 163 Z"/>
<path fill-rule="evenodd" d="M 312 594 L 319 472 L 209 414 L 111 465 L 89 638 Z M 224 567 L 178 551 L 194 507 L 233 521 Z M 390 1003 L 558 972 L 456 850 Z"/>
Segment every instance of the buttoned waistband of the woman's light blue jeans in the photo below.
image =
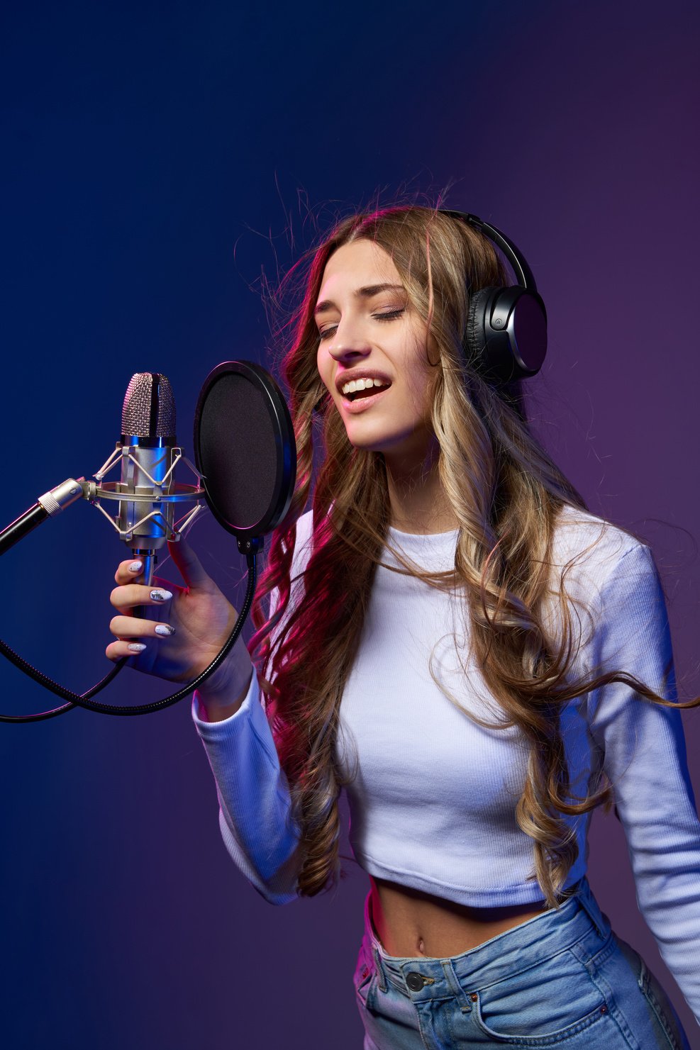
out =
<path fill-rule="evenodd" d="M 446 984 L 453 992 L 461 994 L 465 984 L 475 990 L 483 988 L 579 942 L 590 941 L 591 944 L 584 946 L 596 950 L 611 932 L 610 921 L 583 877 L 558 910 L 549 908 L 476 948 L 449 959 L 399 958 L 389 956 L 376 936 L 371 922 L 370 897 L 368 894 L 365 901 L 365 949 L 376 967 L 379 988 L 386 990 L 386 982 L 390 981 L 413 999 L 416 993 L 418 998 L 442 995 Z M 370 959 L 367 962 L 369 964 Z M 423 978 L 423 985 L 418 978 Z"/>

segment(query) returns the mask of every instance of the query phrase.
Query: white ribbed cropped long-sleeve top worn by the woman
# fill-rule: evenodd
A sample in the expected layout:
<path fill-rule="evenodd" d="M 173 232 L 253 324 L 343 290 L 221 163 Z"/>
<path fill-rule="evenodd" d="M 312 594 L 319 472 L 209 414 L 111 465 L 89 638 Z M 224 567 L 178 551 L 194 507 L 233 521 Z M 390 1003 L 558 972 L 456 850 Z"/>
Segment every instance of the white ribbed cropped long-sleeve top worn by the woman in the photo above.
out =
<path fill-rule="evenodd" d="M 453 568 L 456 540 L 456 531 L 389 532 L 390 545 L 434 571 Z M 297 524 L 292 579 L 310 545 L 308 513 Z M 675 699 L 673 671 L 664 682 L 671 638 L 650 549 L 564 507 L 552 562 L 572 559 L 564 586 L 580 642 L 576 670 L 627 671 Z M 369 875 L 461 904 L 540 900 L 533 840 L 515 819 L 528 744 L 517 727 L 485 729 L 460 710 L 503 718 L 470 655 L 464 595 L 393 572 L 398 563 L 388 549 L 383 563 L 336 744 L 341 769 L 354 772 L 347 796 L 355 859 Z M 292 600 L 297 587 L 303 578 Z M 556 635 L 554 604 L 548 627 Z M 297 832 L 255 677 L 230 718 L 207 722 L 201 714 L 195 694 L 192 717 L 214 774 L 226 847 L 267 900 L 286 903 L 295 897 Z M 601 770 L 613 782 L 640 910 L 700 1022 L 700 822 L 680 713 L 613 684 L 570 701 L 561 732 L 573 794 L 595 788 Z M 564 888 L 585 874 L 590 814 L 567 819 L 579 853 Z"/>

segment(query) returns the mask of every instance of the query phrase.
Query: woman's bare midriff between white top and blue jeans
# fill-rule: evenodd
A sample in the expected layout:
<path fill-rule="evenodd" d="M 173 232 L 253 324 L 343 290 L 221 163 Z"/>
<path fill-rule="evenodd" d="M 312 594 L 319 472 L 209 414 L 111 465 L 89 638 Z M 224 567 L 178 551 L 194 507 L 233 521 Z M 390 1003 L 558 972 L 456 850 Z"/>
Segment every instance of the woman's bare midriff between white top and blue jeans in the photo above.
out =
<path fill-rule="evenodd" d="M 388 956 L 447 959 L 542 915 L 544 899 L 507 907 L 474 908 L 419 889 L 370 877 L 372 925 Z"/>

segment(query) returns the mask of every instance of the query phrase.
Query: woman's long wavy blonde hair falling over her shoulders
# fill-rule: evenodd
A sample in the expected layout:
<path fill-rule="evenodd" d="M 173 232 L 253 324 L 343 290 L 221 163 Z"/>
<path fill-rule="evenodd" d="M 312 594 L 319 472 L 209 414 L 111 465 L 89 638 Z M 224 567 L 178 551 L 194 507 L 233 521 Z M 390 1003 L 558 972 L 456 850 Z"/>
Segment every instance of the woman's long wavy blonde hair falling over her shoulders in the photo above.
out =
<path fill-rule="evenodd" d="M 533 839 L 533 877 L 548 905 L 557 907 L 578 852 L 565 816 L 600 804 L 610 808 L 614 800 L 604 775 L 586 797 L 571 793 L 560 732 L 563 706 L 611 681 L 624 681 L 668 707 L 689 707 L 700 699 L 674 704 L 623 671 L 570 680 L 576 643 L 563 575 L 556 643 L 544 630 L 543 603 L 551 594 L 557 513 L 564 504 L 582 510 L 585 504 L 531 434 L 517 384 L 497 388 L 479 375 L 476 362 L 465 359 L 470 293 L 508 284 L 493 245 L 459 219 L 414 206 L 346 218 L 309 253 L 306 291 L 283 362 L 297 443 L 297 481 L 289 513 L 272 536 L 249 648 L 267 693 L 268 718 L 301 827 L 304 862 L 297 891 L 313 896 L 334 885 L 339 875 L 337 803 L 344 780 L 335 759 L 338 713 L 389 525 L 384 458 L 350 444 L 316 370 L 313 308 L 324 270 L 337 248 L 358 238 L 373 242 L 391 257 L 438 352 L 432 426 L 439 444 L 439 478 L 459 523 L 454 572 L 448 580 L 403 561 L 404 571 L 438 587 L 454 586 L 456 578 L 464 591 L 472 651 L 506 719 L 488 723 L 465 714 L 493 728 L 517 726 L 530 743 L 516 819 Z M 315 470 L 314 418 L 323 438 Z M 295 523 L 312 488 L 311 555 L 292 603 Z M 264 604 L 273 589 L 277 601 L 268 616 Z"/>

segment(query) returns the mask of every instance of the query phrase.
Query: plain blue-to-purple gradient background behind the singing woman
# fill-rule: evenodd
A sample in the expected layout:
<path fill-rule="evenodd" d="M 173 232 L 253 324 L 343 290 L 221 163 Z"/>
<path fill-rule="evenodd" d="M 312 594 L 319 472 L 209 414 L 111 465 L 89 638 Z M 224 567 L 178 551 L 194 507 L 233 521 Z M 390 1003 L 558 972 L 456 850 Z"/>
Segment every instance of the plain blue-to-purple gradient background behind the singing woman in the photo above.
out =
<path fill-rule="evenodd" d="M 98 9 L 99 8 L 99 9 Z M 591 508 L 652 544 L 685 696 L 698 674 L 699 9 L 678 0 L 7 7 L 0 32 L 2 524 L 119 433 L 133 371 L 166 372 L 191 447 L 199 386 L 264 356 L 254 282 L 321 225 L 403 185 L 491 218 L 548 304 L 538 432 Z M 291 228 L 294 248 L 285 233 Z M 271 233 L 271 239 L 270 234 Z M 9 440 L 8 440 L 9 439 Z M 194 533 L 235 595 L 210 521 Z M 3 562 L 2 636 L 61 680 L 103 673 L 123 548 L 77 508 Z M 53 706 L 9 666 L 2 710 Z M 142 699 L 161 682 L 125 672 Z M 696 795 L 700 715 L 683 715 Z M 272 908 L 220 840 L 182 704 L 0 727 L 2 1040 L 12 1048 L 362 1045 L 351 974 L 367 879 Z M 590 878 L 700 1047 L 599 814 Z"/>

